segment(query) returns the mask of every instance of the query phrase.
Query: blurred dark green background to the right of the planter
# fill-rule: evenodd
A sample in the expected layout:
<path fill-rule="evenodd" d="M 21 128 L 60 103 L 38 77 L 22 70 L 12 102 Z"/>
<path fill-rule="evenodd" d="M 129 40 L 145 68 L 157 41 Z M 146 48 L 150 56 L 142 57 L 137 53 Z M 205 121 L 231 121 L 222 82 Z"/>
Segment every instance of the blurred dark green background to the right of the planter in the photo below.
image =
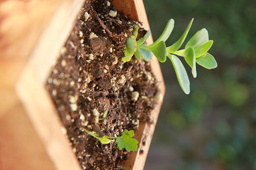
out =
<path fill-rule="evenodd" d="M 170 18 L 171 45 L 206 28 L 218 67 L 197 67 L 191 92 L 161 63 L 166 94 L 145 170 L 256 170 L 256 1 L 144 0 L 154 40 Z M 182 59 L 184 62 L 184 59 Z"/>

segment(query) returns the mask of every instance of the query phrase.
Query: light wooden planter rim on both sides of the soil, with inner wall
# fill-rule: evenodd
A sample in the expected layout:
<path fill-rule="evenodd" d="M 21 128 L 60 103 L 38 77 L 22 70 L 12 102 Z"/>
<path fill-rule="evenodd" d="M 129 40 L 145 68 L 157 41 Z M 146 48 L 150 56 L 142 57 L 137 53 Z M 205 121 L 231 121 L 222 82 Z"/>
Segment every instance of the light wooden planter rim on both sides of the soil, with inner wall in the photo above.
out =
<path fill-rule="evenodd" d="M 45 85 L 51 67 L 59 57 L 59 51 L 66 42 L 84 1 L 59 2 L 59 7 L 51 18 L 51 22 L 45 27 L 17 84 L 19 97 L 58 170 L 79 170 L 81 168 L 67 138 L 61 133 L 62 124 Z M 134 20 L 141 21 L 143 28 L 149 29 L 142 0 L 113 0 L 112 3 L 118 11 Z M 47 13 L 47 8 L 45 13 Z M 152 37 L 149 37 L 147 42 L 152 43 Z M 164 95 L 164 81 L 156 57 L 151 60 L 151 67 L 159 82 L 159 90 Z M 128 160 L 122 162 L 125 170 L 143 169 L 160 107 L 161 104 L 157 105 L 151 113 L 153 124 L 140 123 L 139 129 L 136 130 L 135 138 L 139 141 L 139 149 L 137 152 L 130 153 Z M 142 140 L 146 140 L 145 145 L 142 145 Z M 142 155 L 139 154 L 140 150 L 143 150 Z"/>

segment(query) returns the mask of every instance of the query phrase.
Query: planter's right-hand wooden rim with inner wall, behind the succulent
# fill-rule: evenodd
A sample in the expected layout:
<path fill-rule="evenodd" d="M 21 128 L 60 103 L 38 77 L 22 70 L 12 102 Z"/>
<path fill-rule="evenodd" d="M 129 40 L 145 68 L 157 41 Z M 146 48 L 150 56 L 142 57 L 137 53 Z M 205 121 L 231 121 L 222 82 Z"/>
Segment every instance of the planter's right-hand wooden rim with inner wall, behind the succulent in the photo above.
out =
<path fill-rule="evenodd" d="M 133 20 L 140 21 L 145 30 L 150 29 L 146 10 L 142 0 L 113 0 L 112 3 L 115 5 L 118 11 L 124 13 Z M 134 11 L 136 11 L 136 13 L 134 13 Z M 152 35 L 150 35 L 146 42 L 148 44 L 154 42 Z M 164 97 L 165 85 L 159 61 L 156 57 L 153 57 L 150 64 L 157 82 L 159 83 L 159 92 L 161 92 Z M 138 130 L 135 131 L 135 138 L 139 141 L 138 151 L 130 153 L 128 155 L 128 159 L 121 162 L 121 165 L 125 168 L 125 170 L 143 170 L 161 105 L 162 103 L 159 103 L 151 112 L 151 120 L 153 120 L 153 123 L 148 124 L 141 122 Z"/>

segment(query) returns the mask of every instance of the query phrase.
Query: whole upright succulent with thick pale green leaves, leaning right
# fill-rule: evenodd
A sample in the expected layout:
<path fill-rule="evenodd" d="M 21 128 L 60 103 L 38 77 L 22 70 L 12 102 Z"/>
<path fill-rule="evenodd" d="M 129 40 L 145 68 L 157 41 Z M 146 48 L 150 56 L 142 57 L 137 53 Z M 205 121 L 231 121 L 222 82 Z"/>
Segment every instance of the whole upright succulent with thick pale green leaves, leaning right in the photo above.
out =
<path fill-rule="evenodd" d="M 166 47 L 165 41 L 169 38 L 174 28 L 173 19 L 168 21 L 161 36 L 151 45 L 144 44 L 150 35 L 150 30 L 146 32 L 144 37 L 136 41 L 136 37 L 138 35 L 138 26 L 135 25 L 133 35 L 128 37 L 125 44 L 125 57 L 122 58 L 122 61 L 130 61 L 133 55 L 135 55 L 138 60 L 143 58 L 144 60 L 149 61 L 151 60 L 153 53 L 160 62 L 165 62 L 167 56 L 172 61 L 179 85 L 186 94 L 189 94 L 189 78 L 182 62 L 176 55 L 184 57 L 187 64 L 191 67 L 191 72 L 194 78 L 197 77 L 196 63 L 207 69 L 217 67 L 215 58 L 207 52 L 212 46 L 213 41 L 209 40 L 208 31 L 205 28 L 197 31 L 195 35 L 193 35 L 187 42 L 185 48 L 179 50 L 187 37 L 193 20 L 194 18 L 192 18 L 192 20 L 189 22 L 189 25 L 179 40 L 169 47 Z"/>

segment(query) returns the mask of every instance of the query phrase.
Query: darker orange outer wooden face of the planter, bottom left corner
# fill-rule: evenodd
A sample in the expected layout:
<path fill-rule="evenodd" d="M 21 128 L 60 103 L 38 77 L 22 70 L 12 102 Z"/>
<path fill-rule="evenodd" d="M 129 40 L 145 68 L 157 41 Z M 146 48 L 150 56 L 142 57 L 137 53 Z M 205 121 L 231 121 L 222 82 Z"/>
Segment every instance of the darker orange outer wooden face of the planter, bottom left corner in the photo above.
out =
<path fill-rule="evenodd" d="M 54 170 L 20 102 L 0 117 L 0 170 Z"/>

